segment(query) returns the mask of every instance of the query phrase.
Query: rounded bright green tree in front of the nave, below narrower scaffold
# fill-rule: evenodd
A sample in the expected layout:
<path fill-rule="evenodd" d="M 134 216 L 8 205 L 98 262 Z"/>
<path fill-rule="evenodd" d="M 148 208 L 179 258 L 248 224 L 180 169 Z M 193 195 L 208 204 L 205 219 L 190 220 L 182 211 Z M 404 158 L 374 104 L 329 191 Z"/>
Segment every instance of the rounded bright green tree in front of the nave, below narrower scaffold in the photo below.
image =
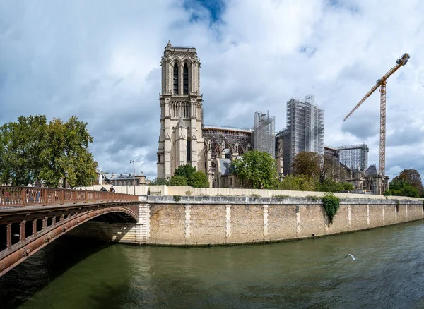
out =
<path fill-rule="evenodd" d="M 233 162 L 235 174 L 256 189 L 273 189 L 278 186 L 278 172 L 271 154 L 253 150 Z"/>

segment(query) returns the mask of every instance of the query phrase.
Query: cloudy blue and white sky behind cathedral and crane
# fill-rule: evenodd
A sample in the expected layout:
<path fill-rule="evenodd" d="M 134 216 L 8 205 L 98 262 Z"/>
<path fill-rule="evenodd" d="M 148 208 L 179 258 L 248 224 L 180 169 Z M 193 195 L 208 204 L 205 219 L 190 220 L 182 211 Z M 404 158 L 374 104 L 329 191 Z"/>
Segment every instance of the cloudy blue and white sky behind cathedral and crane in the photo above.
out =
<path fill-rule="evenodd" d="M 204 124 L 285 128 L 286 102 L 312 94 L 325 144 L 366 143 L 379 164 L 379 92 L 390 68 L 386 174 L 424 174 L 424 1 L 0 0 L 0 126 L 18 116 L 88 123 L 102 171 L 156 176 L 160 57 L 170 40 L 201 59 Z"/>

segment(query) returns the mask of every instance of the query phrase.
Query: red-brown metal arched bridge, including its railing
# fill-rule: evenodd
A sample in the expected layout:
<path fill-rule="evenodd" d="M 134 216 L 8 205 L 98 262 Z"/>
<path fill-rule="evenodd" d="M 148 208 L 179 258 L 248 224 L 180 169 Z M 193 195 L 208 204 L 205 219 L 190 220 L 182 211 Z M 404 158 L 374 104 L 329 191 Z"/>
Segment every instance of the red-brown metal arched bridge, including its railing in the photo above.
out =
<path fill-rule="evenodd" d="M 122 193 L 0 186 L 0 277 L 90 219 L 139 221 L 139 197 Z"/>

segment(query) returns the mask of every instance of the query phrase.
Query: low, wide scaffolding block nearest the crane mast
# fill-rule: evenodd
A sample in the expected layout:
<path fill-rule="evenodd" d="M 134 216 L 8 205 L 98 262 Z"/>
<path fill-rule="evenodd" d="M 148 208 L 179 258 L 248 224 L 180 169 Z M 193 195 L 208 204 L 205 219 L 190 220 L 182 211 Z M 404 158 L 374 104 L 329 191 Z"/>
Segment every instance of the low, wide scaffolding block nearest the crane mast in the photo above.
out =
<path fill-rule="evenodd" d="M 351 169 L 360 168 L 362 171 L 367 169 L 370 150 L 366 144 L 340 146 L 337 150 L 340 163 Z"/>

